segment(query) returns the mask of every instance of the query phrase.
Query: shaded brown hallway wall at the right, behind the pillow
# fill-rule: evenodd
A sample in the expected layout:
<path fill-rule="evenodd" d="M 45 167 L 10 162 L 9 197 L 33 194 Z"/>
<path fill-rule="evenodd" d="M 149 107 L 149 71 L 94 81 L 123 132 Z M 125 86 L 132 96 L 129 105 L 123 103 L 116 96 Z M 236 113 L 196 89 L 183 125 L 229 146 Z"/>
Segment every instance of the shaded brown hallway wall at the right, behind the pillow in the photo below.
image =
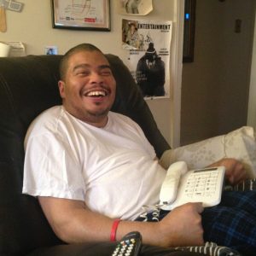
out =
<path fill-rule="evenodd" d="M 181 144 L 247 125 L 254 17 L 255 0 L 196 1 L 195 60 L 183 65 Z"/>

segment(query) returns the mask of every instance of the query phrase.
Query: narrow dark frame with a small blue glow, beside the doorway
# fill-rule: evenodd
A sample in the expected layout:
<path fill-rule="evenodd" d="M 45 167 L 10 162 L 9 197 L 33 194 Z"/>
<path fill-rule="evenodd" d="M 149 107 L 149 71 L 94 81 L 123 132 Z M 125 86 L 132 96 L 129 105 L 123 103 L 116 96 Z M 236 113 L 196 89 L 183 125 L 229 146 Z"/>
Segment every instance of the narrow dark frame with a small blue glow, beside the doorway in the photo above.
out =
<path fill-rule="evenodd" d="M 196 0 L 185 0 L 184 32 L 183 32 L 183 62 L 194 61 L 195 3 L 196 3 Z"/>

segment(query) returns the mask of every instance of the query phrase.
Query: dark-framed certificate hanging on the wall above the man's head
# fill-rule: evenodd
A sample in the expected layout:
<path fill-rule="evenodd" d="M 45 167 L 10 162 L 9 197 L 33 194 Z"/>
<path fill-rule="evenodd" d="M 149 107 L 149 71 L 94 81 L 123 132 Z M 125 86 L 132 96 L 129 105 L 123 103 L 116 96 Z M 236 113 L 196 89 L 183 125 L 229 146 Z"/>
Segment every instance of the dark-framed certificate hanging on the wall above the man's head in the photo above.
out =
<path fill-rule="evenodd" d="M 110 0 L 51 0 L 54 28 L 110 31 Z"/>

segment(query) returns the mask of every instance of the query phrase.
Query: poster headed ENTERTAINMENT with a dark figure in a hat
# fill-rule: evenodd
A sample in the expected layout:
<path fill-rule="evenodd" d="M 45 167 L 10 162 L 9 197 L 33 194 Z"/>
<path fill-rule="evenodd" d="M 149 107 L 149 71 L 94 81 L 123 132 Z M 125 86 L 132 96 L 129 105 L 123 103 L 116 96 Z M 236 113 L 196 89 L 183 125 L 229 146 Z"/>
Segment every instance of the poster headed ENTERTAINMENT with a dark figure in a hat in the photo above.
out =
<path fill-rule="evenodd" d="M 122 20 L 125 61 L 145 99 L 170 97 L 172 21 Z"/>

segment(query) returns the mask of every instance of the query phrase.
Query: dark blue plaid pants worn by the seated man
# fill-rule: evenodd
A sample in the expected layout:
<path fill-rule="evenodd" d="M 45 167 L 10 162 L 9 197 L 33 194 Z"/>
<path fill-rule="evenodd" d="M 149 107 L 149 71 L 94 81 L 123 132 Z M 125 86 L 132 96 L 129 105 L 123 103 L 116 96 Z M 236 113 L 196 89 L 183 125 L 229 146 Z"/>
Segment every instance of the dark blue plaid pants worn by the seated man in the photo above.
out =
<path fill-rule="evenodd" d="M 167 213 L 155 207 L 136 220 L 159 221 Z M 230 247 L 244 256 L 256 255 L 256 191 L 224 191 L 221 203 L 205 208 L 201 215 L 205 241 Z"/>

